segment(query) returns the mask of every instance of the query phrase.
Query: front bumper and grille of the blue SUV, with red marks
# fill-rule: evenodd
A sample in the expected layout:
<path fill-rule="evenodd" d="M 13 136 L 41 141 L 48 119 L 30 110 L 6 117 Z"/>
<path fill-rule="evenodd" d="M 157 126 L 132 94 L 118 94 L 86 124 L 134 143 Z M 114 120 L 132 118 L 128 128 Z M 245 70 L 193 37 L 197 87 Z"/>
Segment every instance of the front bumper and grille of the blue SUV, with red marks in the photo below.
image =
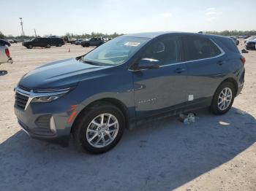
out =
<path fill-rule="evenodd" d="M 33 95 L 26 87 L 15 88 L 14 111 L 21 128 L 32 138 L 67 145 L 75 117 L 83 109 L 73 99 L 76 92 L 47 103 L 31 101 Z"/>

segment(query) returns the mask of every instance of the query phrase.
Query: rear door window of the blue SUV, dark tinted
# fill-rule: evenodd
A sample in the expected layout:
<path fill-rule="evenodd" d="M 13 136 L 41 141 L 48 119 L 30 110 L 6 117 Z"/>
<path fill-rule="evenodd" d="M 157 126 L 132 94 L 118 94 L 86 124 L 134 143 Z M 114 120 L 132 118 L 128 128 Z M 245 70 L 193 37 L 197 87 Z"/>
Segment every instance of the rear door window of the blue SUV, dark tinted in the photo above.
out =
<path fill-rule="evenodd" d="M 187 47 L 187 61 L 212 58 L 221 54 L 221 51 L 216 46 L 216 44 L 207 38 L 187 36 L 184 40 L 184 43 Z"/>

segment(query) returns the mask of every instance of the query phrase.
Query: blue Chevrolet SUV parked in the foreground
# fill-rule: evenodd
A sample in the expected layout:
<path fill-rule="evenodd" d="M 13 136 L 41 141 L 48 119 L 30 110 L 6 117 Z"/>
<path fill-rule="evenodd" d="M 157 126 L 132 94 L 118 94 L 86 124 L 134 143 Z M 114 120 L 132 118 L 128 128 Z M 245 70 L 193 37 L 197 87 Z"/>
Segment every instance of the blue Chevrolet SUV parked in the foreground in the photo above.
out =
<path fill-rule="evenodd" d="M 72 134 L 79 147 L 107 152 L 145 117 L 202 107 L 225 114 L 244 85 L 244 63 L 224 36 L 119 36 L 25 74 L 15 87 L 15 114 L 33 138 L 67 145 Z"/>

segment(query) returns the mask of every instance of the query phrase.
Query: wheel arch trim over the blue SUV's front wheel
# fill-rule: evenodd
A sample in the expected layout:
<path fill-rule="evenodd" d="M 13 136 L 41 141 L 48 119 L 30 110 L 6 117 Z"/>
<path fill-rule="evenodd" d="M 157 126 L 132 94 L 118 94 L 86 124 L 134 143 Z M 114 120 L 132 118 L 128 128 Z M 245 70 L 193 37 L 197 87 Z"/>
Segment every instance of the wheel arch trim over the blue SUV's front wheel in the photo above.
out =
<path fill-rule="evenodd" d="M 72 123 L 70 132 L 72 133 L 73 127 L 78 122 L 79 118 L 82 117 L 86 111 L 93 108 L 94 106 L 99 106 L 100 104 L 112 104 L 113 106 L 116 106 L 118 109 L 120 109 L 122 114 L 124 114 L 125 128 L 129 128 L 129 112 L 128 112 L 127 106 L 125 106 L 125 104 L 122 101 L 116 98 L 101 98 L 91 102 L 79 112 L 77 117 L 75 117 L 74 122 Z"/>

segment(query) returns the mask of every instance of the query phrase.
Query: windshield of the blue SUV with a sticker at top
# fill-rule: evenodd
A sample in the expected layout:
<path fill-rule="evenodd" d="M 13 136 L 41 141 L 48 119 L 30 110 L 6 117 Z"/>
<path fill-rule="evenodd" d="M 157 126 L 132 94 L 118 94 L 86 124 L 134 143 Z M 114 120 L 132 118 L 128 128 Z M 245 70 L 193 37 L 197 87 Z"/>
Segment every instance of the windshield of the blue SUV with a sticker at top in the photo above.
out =
<path fill-rule="evenodd" d="M 99 65 L 118 65 L 128 61 L 148 40 L 147 38 L 120 36 L 84 55 L 81 61 Z"/>

